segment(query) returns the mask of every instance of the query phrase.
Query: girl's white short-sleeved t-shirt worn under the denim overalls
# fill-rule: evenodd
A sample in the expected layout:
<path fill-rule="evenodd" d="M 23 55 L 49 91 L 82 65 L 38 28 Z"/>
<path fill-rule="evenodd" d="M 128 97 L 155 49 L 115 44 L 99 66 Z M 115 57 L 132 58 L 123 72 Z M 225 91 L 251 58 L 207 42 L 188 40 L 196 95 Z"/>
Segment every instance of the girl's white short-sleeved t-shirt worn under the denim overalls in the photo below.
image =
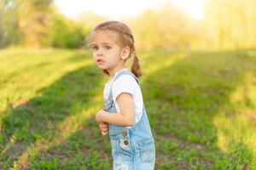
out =
<path fill-rule="evenodd" d="M 124 70 L 128 70 L 128 69 L 125 68 L 121 71 L 124 71 Z M 119 72 L 120 71 L 115 72 L 114 77 L 111 80 L 109 80 L 107 83 L 105 83 L 104 99 L 108 99 L 110 86 L 113 82 L 113 79 L 117 76 Z M 135 106 L 135 124 L 136 124 L 137 122 L 139 122 L 139 120 L 143 115 L 143 94 L 142 94 L 141 88 L 139 87 L 134 77 L 132 77 L 131 75 L 122 75 L 113 82 L 112 98 L 113 98 L 114 105 L 117 112 L 120 112 L 120 109 L 116 99 L 121 93 L 132 94 L 133 104 Z"/>

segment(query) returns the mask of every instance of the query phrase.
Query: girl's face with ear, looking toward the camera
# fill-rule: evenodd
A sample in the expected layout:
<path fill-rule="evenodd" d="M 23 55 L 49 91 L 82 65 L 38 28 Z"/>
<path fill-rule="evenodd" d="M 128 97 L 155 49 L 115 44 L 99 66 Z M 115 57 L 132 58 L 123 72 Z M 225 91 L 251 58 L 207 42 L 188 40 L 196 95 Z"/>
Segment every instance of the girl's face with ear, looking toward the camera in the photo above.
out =
<path fill-rule="evenodd" d="M 111 71 L 124 64 L 127 54 L 120 48 L 118 41 L 119 36 L 114 31 L 102 30 L 93 34 L 91 47 L 96 65 Z"/>

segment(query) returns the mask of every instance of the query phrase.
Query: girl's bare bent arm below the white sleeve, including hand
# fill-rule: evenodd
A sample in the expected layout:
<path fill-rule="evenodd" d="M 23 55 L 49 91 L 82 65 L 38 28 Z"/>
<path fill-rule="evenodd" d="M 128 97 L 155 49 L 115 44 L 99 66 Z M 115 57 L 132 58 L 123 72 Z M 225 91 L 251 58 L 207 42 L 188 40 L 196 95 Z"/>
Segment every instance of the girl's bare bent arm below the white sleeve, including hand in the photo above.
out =
<path fill-rule="evenodd" d="M 96 114 L 97 122 L 108 122 L 117 126 L 132 126 L 135 123 L 135 106 L 132 95 L 129 93 L 119 94 L 117 97 L 120 112 L 110 113 L 108 111 L 99 111 Z"/>

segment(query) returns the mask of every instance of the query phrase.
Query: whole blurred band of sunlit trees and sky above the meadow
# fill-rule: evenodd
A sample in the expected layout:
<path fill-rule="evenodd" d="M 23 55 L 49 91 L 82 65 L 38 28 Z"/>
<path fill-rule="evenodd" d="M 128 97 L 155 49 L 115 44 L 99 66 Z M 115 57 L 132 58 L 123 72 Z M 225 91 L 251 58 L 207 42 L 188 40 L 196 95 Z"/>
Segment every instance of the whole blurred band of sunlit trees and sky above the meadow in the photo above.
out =
<path fill-rule="evenodd" d="M 0 48 L 82 48 L 106 20 L 131 26 L 139 49 L 255 48 L 254 7 L 254 0 L 5 0 Z"/>

